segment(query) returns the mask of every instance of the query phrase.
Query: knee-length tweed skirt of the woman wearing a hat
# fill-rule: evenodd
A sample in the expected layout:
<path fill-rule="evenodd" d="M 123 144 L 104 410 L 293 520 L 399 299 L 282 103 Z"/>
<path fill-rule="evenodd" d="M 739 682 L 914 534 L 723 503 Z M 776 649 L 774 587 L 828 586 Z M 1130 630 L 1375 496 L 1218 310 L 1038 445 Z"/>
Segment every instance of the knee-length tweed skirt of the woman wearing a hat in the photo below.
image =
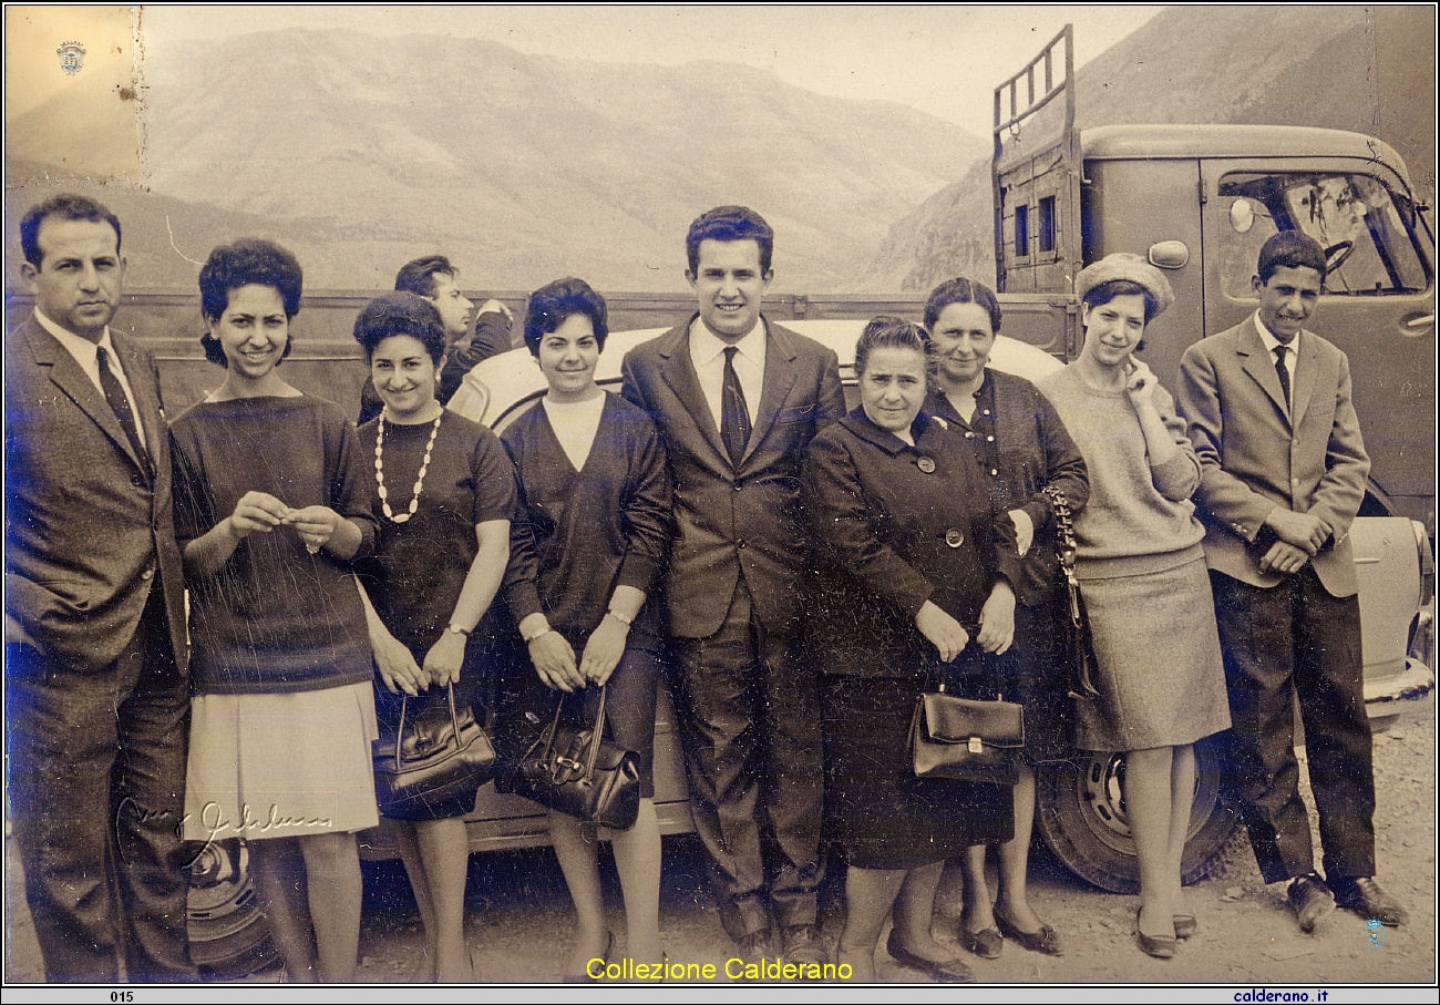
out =
<path fill-rule="evenodd" d="M 1077 703 L 1084 750 L 1185 746 L 1230 727 L 1205 560 L 1080 583 L 1100 697 Z"/>

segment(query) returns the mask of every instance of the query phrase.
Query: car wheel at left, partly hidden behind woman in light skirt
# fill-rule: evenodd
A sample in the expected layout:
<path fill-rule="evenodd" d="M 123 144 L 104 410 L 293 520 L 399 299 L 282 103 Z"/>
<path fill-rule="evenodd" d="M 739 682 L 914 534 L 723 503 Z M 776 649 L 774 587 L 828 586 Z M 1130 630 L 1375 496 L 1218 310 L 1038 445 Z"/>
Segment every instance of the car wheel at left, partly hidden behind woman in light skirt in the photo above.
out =
<path fill-rule="evenodd" d="M 194 845 L 199 848 L 199 845 Z M 210 841 L 190 862 L 190 960 L 210 979 L 243 978 L 278 957 L 239 838 Z"/>

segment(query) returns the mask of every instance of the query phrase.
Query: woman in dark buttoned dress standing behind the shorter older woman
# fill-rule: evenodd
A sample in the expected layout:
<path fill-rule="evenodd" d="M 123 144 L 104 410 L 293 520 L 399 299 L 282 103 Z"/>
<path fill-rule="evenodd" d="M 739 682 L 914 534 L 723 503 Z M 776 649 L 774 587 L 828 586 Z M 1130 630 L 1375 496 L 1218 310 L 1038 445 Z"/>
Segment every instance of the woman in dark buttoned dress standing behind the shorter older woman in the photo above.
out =
<path fill-rule="evenodd" d="M 949 420 L 975 451 L 991 502 L 1014 526 L 1022 557 L 1015 582 L 1015 642 L 1005 681 L 1007 697 L 1025 706 L 1027 750 L 1015 785 L 1015 837 L 999 845 L 999 897 L 991 907 L 985 880 L 985 845 L 960 860 L 965 909 L 959 942 L 976 956 L 999 956 L 1004 936 L 1025 949 L 1061 956 L 1060 936 L 1044 924 L 1025 897 L 1030 832 L 1035 816 L 1034 763 L 1064 757 L 1061 714 L 1068 708 L 1066 623 L 1060 621 L 1058 559 L 1054 510 L 1044 490 L 1060 490 L 1071 513 L 1090 495 L 1084 459 L 1056 409 L 1024 377 L 994 370 L 989 363 L 999 334 L 995 294 L 966 278 L 942 282 L 924 305 L 935 379 L 924 407 Z M 986 619 L 996 631 L 995 618 Z M 986 642 L 981 629 L 981 642 Z M 953 867 L 948 877 L 956 875 Z M 958 877 L 956 877 L 958 878 Z M 946 900 L 942 890 L 942 900 Z"/>

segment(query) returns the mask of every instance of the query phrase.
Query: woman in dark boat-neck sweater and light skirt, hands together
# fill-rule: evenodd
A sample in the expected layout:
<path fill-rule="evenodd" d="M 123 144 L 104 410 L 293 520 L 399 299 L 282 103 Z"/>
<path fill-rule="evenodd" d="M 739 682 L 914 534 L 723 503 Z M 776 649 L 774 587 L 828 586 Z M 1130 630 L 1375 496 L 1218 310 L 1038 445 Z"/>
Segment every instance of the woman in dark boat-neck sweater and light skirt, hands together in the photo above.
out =
<path fill-rule="evenodd" d="M 245 838 L 289 979 L 348 982 L 354 832 L 377 822 L 351 562 L 374 518 L 344 413 L 276 371 L 300 291 L 298 262 L 268 240 L 216 248 L 200 271 L 202 343 L 226 373 L 170 429 L 193 644 L 184 837 Z"/>

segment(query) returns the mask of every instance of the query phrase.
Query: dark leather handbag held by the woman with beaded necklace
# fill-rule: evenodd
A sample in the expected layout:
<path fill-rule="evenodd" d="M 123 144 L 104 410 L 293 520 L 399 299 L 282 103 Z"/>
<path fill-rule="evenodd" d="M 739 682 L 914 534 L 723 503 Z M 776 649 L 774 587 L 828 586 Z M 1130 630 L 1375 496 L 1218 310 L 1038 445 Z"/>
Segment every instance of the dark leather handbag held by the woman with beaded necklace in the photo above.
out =
<path fill-rule="evenodd" d="M 380 814 L 400 821 L 438 821 L 475 809 L 475 793 L 495 773 L 495 747 L 467 706 L 429 701 L 412 714 L 410 695 L 400 695 L 400 723 L 382 727 L 374 756 L 374 796 Z M 416 704 L 422 704 L 416 700 Z"/>

